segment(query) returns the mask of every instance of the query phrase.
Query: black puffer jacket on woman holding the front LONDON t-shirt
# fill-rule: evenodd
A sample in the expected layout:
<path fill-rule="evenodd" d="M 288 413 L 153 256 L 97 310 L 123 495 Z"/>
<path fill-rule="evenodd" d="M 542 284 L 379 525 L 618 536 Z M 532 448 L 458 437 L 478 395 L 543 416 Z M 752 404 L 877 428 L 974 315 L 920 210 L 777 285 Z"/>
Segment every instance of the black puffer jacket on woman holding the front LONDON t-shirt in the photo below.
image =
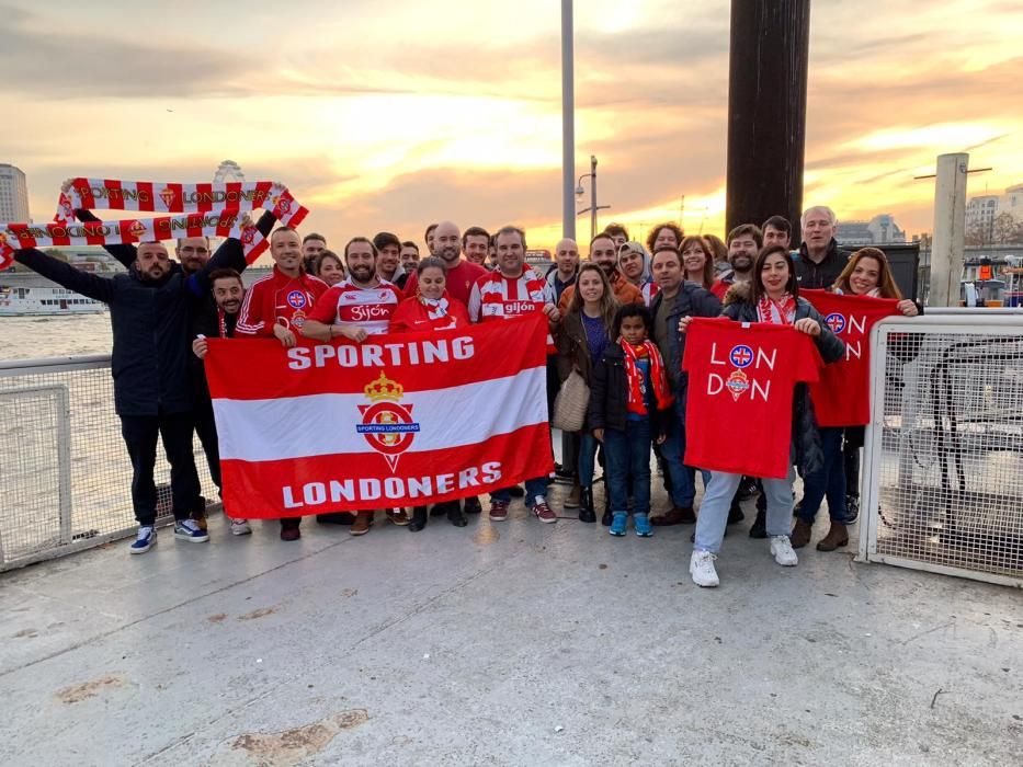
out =
<path fill-rule="evenodd" d="M 725 294 L 725 310 L 721 314 L 736 322 L 758 322 L 759 317 L 752 293 L 752 283 L 734 284 Z M 845 356 L 845 344 L 831 332 L 831 328 L 809 301 L 805 298 L 797 298 L 796 320 L 804 318 L 817 320 L 820 325 L 820 335 L 814 336 L 814 343 L 825 363 L 830 364 L 842 359 Z M 799 467 L 804 477 L 823 466 L 820 432 L 817 428 L 814 402 L 810 400 L 806 384 L 797 384 L 793 391 L 792 442 L 796 447 L 796 466 Z"/>

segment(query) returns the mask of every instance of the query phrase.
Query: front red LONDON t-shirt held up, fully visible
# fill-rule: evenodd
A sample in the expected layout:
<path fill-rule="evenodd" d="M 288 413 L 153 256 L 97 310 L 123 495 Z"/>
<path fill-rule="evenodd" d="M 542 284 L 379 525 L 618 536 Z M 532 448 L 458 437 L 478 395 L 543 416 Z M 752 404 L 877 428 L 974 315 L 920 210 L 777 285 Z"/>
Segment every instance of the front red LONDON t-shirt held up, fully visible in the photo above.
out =
<path fill-rule="evenodd" d="M 821 367 L 814 341 L 792 325 L 693 319 L 682 357 L 685 465 L 787 477 L 793 389 L 816 381 Z"/>

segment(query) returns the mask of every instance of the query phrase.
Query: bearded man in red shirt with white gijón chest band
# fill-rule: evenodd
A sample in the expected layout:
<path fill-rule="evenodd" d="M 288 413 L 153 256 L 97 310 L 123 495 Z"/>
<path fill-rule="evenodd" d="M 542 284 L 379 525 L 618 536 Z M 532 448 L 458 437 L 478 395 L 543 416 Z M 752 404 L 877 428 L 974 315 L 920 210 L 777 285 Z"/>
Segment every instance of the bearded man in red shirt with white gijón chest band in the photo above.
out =
<path fill-rule="evenodd" d="M 396 238 L 397 239 L 397 238 Z M 302 334 L 316 341 L 331 341 L 343 335 L 362 343 L 371 335 L 387 332 L 390 316 L 403 299 L 401 291 L 391 283 L 379 277 L 376 245 L 365 237 L 354 237 L 344 247 L 344 263 L 349 278 L 327 290 L 320 298 Z M 373 525 L 374 512 L 360 511 L 350 533 L 362 536 Z M 403 508 L 387 511 L 388 518 L 396 525 L 409 524 Z M 341 522 L 340 515 L 323 514 L 320 522 Z"/>

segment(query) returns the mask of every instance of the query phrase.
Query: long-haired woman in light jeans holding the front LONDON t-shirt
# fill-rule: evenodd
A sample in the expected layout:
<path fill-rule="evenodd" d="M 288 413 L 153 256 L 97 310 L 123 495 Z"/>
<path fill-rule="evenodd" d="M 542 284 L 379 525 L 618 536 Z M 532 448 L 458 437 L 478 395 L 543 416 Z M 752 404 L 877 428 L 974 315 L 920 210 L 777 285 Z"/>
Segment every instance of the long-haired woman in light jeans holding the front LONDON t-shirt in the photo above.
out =
<path fill-rule="evenodd" d="M 724 317 L 736 322 L 766 322 L 787 324 L 809 335 L 826 363 L 838 362 L 845 353 L 839 340 L 809 301 L 799 296 L 799 283 L 792 254 L 782 245 L 771 245 L 760 251 L 753 262 L 752 279 L 734 284 L 725 296 Z M 685 332 L 691 318 L 683 318 L 679 331 Z M 792 430 L 793 453 L 806 465 L 820 460 L 817 423 L 809 402 L 805 384 L 796 386 L 793 393 L 793 420 L 780 427 Z M 737 435 L 736 449 L 741 449 L 741 436 Z M 792 519 L 792 483 L 789 470 L 785 479 L 764 479 L 763 489 L 768 500 L 766 528 L 771 539 L 771 553 L 782 565 L 792 566 L 799 559 L 788 538 Z M 711 476 L 696 519 L 693 556 L 690 574 L 698 586 L 718 585 L 714 560 L 721 546 L 731 499 L 741 482 L 740 474 L 715 471 Z"/>

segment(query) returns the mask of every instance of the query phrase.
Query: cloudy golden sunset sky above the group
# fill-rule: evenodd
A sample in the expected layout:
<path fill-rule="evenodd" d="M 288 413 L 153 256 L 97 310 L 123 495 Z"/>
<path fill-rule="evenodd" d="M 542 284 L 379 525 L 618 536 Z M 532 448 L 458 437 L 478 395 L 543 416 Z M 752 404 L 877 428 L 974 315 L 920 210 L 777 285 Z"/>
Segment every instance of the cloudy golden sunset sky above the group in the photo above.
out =
<path fill-rule="evenodd" d="M 37 220 L 71 175 L 285 182 L 340 245 L 430 221 L 560 233 L 560 3 L 0 0 L 0 162 Z M 247 8 L 247 10 L 239 10 Z M 729 3 L 576 1 L 576 174 L 602 224 L 724 226 Z M 815 0 L 805 203 L 932 226 L 937 154 L 1023 183 L 1023 3 Z M 584 207 L 586 203 L 579 207 Z M 589 219 L 578 221 L 588 239 Z"/>

